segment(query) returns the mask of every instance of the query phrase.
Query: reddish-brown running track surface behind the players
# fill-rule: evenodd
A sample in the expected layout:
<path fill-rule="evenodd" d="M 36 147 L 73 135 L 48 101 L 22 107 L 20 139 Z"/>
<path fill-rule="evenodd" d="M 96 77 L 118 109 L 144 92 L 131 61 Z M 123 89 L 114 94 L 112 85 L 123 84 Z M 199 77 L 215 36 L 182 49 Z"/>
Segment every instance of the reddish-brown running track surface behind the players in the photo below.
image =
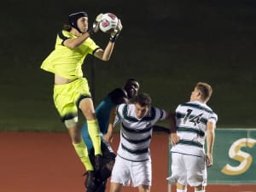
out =
<path fill-rule="evenodd" d="M 113 149 L 117 149 L 118 143 L 119 135 L 116 135 Z M 152 192 L 167 191 L 167 148 L 168 137 L 154 135 L 151 143 Z M 83 173 L 84 166 L 67 133 L 0 132 L 0 192 L 84 192 Z M 122 192 L 128 191 L 137 189 L 122 189 Z M 256 192 L 256 185 L 207 186 L 207 192 L 249 191 Z"/>

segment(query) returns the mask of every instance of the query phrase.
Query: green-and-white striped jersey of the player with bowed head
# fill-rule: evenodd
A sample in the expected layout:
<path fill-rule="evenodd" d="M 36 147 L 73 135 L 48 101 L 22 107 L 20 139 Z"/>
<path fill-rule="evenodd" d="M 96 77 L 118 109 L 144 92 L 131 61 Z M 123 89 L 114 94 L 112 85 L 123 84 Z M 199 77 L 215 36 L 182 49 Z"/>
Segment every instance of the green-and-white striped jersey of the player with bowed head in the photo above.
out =
<path fill-rule="evenodd" d="M 142 119 L 137 119 L 134 104 L 121 104 L 117 108 L 120 122 L 120 143 L 117 154 L 125 160 L 150 160 L 149 144 L 152 126 L 166 119 L 166 111 L 151 107 Z"/>

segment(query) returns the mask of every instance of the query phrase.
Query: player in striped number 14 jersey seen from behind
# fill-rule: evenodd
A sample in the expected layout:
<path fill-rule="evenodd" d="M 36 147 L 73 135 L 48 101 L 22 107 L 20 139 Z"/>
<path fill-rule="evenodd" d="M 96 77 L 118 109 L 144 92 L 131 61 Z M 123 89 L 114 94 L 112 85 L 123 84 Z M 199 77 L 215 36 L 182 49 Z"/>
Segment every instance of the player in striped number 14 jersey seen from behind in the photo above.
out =
<path fill-rule="evenodd" d="M 204 192 L 207 185 L 207 167 L 212 166 L 212 149 L 216 113 L 207 106 L 212 87 L 199 82 L 192 91 L 190 101 L 176 109 L 177 131 L 172 139 L 172 176 L 167 179 L 176 183 L 177 192 L 186 192 L 187 185 L 196 192 Z M 207 140 L 207 154 L 204 145 Z"/>

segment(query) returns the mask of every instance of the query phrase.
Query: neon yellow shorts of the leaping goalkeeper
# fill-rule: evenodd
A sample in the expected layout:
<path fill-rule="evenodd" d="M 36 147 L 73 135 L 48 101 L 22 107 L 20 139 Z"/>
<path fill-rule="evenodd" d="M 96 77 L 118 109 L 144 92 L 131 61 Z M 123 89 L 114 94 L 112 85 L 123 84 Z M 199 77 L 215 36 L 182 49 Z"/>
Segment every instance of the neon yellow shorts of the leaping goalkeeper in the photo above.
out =
<path fill-rule="evenodd" d="M 63 122 L 77 117 L 79 102 L 90 97 L 90 88 L 85 78 L 76 79 L 68 84 L 55 84 L 54 86 L 55 108 Z"/>

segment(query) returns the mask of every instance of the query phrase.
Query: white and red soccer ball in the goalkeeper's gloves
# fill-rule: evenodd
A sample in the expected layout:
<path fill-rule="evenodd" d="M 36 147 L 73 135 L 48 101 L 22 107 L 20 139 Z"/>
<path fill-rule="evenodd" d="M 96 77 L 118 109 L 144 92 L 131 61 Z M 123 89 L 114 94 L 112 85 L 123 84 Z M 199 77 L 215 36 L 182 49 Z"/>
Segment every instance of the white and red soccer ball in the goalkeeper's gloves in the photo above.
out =
<path fill-rule="evenodd" d="M 111 13 L 104 14 L 100 23 L 100 29 L 102 32 L 113 32 L 118 22 L 119 19 L 116 15 Z"/>

